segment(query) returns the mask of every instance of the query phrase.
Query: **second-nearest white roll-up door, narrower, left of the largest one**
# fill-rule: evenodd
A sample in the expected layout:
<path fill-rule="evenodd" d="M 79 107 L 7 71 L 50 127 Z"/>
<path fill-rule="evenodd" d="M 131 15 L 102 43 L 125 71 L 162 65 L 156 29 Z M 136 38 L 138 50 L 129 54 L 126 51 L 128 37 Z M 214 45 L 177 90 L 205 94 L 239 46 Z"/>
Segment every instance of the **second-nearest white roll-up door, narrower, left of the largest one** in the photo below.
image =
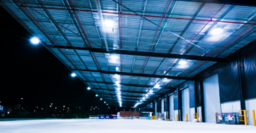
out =
<path fill-rule="evenodd" d="M 182 90 L 182 110 L 183 121 L 186 121 L 186 114 L 188 114 L 188 121 L 190 121 L 189 88 Z"/>

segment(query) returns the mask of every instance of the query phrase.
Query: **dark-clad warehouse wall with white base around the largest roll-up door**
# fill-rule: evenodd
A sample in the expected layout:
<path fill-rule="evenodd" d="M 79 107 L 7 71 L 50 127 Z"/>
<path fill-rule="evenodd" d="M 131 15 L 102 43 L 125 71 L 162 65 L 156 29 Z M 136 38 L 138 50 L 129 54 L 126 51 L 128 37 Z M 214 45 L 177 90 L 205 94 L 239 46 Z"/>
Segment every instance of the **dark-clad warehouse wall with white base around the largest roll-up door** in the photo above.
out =
<path fill-rule="evenodd" d="M 246 101 L 246 109 L 252 107 L 256 99 L 256 42 L 248 44 L 228 58 L 230 63 L 218 63 L 195 75 L 195 104 L 201 108 L 200 81 L 210 75 L 218 74 L 219 97 L 222 112 L 238 112 L 242 108 L 242 97 Z M 188 81 L 187 81 L 188 82 Z M 189 83 L 183 83 L 189 84 Z M 180 85 L 183 86 L 183 85 Z M 192 87 L 192 86 L 191 86 Z M 190 92 L 190 91 L 189 91 Z M 189 96 L 191 99 L 192 96 Z M 251 100 L 250 100 L 251 99 Z M 253 104 L 252 104 L 253 103 Z M 254 104 L 256 106 L 256 103 Z M 198 109 L 200 110 L 200 109 Z"/>

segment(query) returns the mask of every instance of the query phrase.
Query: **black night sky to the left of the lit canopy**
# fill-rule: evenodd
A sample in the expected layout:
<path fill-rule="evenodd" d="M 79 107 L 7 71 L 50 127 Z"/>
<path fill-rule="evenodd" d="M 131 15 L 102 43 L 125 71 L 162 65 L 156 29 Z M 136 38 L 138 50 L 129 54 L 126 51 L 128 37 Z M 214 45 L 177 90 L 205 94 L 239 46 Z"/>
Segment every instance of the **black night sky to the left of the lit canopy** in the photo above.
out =
<path fill-rule="evenodd" d="M 32 35 L 0 6 L 2 105 L 13 106 L 28 99 L 28 109 L 37 106 L 107 108 L 93 91 L 87 91 L 79 78 L 43 46 L 29 42 Z"/>

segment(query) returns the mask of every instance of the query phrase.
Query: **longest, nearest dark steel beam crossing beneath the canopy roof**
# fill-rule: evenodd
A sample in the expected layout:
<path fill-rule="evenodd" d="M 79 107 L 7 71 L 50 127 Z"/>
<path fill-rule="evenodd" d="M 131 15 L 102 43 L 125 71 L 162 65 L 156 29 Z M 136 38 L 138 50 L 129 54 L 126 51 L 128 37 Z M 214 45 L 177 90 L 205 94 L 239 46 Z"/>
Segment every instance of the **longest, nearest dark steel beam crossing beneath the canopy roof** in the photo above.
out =
<path fill-rule="evenodd" d="M 47 46 L 52 48 L 88 50 L 93 53 L 114 53 L 114 54 L 125 54 L 125 55 L 135 55 L 135 56 L 148 56 L 148 57 L 155 57 L 155 58 L 182 58 L 182 59 L 213 61 L 213 62 L 229 62 L 229 60 L 226 58 L 212 58 L 212 57 L 181 55 L 181 54 L 172 54 L 172 53 L 148 53 L 148 52 L 135 52 L 135 51 L 126 51 L 126 50 L 110 50 L 109 52 L 107 52 L 102 48 L 67 47 L 67 46 L 52 46 L 52 45 L 47 45 Z"/>

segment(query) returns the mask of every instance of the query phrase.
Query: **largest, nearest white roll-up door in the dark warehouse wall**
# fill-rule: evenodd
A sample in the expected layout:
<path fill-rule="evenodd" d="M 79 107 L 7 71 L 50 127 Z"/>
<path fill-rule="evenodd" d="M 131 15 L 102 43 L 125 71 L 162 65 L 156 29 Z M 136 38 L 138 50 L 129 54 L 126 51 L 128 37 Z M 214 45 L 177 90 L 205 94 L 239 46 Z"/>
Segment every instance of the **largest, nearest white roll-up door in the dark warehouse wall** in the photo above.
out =
<path fill-rule="evenodd" d="M 215 113 L 221 113 L 218 75 L 212 75 L 203 80 L 205 120 L 208 123 L 215 122 Z"/>

